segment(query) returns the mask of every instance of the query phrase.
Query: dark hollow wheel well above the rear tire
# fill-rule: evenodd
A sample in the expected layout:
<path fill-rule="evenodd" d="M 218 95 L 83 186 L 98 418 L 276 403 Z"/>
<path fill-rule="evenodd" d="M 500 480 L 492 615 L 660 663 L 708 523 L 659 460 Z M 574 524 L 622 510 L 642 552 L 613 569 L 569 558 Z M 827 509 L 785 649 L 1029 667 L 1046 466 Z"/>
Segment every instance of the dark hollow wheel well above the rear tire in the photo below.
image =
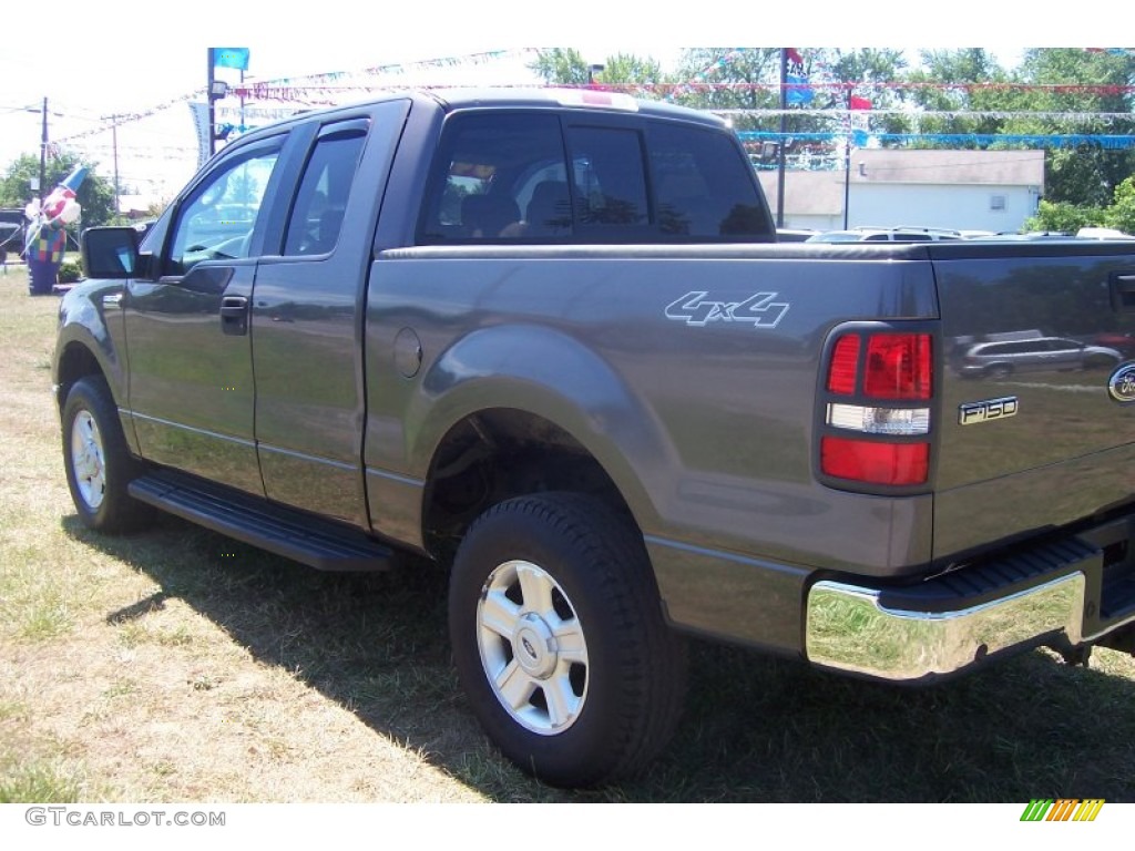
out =
<path fill-rule="evenodd" d="M 426 549 L 448 563 L 489 507 L 553 490 L 597 497 L 633 523 L 611 477 L 564 429 L 524 411 L 478 412 L 449 429 L 434 455 L 422 512 Z"/>

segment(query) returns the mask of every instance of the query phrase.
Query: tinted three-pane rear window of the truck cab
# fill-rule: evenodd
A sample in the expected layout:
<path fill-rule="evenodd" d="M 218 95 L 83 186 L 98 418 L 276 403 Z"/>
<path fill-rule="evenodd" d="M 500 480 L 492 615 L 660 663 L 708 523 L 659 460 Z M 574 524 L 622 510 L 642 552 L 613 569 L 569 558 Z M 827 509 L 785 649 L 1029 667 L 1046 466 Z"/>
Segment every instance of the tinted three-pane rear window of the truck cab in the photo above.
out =
<path fill-rule="evenodd" d="M 751 169 L 723 133 L 552 112 L 455 115 L 419 244 L 773 239 Z"/>

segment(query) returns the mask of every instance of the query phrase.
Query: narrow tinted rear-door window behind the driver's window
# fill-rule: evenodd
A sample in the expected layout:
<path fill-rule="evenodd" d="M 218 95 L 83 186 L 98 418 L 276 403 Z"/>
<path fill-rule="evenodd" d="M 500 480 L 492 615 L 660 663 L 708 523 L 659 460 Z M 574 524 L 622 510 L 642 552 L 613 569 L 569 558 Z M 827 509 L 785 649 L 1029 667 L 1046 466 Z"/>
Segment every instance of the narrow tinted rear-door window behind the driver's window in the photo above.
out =
<path fill-rule="evenodd" d="M 365 140 L 365 126 L 359 121 L 331 125 L 320 134 L 288 219 L 285 254 L 327 254 L 335 248 Z"/>

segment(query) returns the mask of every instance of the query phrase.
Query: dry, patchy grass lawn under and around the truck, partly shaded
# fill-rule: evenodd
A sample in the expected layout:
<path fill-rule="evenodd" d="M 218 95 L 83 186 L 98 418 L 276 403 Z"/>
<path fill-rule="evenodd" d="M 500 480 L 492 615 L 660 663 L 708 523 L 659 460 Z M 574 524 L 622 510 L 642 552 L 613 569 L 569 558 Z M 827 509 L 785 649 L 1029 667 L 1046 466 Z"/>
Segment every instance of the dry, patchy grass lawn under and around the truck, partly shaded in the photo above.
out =
<path fill-rule="evenodd" d="M 1135 660 L 1110 650 L 911 690 L 695 643 L 650 770 L 550 789 L 473 722 L 440 571 L 323 574 L 174 519 L 85 530 L 57 304 L 0 277 L 0 802 L 1135 801 Z"/>

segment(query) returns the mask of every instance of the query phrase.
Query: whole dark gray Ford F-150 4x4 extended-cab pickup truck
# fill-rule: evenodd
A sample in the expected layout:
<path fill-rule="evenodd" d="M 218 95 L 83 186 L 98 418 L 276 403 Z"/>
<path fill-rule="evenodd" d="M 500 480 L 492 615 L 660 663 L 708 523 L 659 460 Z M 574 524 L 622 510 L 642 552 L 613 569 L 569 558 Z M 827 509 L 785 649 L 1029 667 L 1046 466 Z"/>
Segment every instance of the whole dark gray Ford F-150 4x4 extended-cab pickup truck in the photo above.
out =
<path fill-rule="evenodd" d="M 691 634 L 906 682 L 1135 644 L 1129 243 L 776 244 L 718 119 L 541 90 L 255 130 L 83 251 L 83 522 L 444 565 L 469 705 L 547 782 L 647 765 Z"/>

